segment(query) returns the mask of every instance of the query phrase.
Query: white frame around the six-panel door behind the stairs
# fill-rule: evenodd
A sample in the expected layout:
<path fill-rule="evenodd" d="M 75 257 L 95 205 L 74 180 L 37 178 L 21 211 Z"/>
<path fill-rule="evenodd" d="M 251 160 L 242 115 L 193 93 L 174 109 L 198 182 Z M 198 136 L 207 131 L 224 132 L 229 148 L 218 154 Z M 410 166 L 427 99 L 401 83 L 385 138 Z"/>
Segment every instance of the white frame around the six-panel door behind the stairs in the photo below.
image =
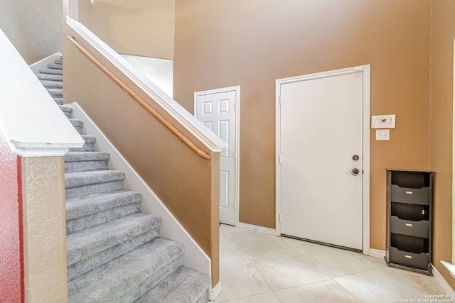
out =
<path fill-rule="evenodd" d="M 234 87 L 223 87 L 220 89 L 209 89 L 194 93 L 193 116 L 196 116 L 196 102 L 198 96 L 205 94 L 218 94 L 222 92 L 235 92 L 235 226 L 239 224 L 239 203 L 240 203 L 240 85 Z"/>

